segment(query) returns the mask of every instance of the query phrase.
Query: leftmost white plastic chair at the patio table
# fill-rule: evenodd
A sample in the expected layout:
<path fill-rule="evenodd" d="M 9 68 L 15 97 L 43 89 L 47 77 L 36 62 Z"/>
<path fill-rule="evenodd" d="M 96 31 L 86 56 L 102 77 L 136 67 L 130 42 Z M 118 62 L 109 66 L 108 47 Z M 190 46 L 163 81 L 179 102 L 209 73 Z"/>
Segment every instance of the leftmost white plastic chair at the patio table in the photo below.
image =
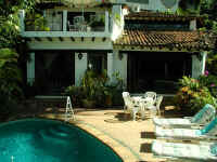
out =
<path fill-rule="evenodd" d="M 128 92 L 123 92 L 123 99 L 124 99 L 124 103 L 125 103 L 124 110 L 129 111 L 133 121 L 135 121 L 136 114 L 140 110 L 139 105 L 133 102 L 133 99 L 130 97 Z"/>

